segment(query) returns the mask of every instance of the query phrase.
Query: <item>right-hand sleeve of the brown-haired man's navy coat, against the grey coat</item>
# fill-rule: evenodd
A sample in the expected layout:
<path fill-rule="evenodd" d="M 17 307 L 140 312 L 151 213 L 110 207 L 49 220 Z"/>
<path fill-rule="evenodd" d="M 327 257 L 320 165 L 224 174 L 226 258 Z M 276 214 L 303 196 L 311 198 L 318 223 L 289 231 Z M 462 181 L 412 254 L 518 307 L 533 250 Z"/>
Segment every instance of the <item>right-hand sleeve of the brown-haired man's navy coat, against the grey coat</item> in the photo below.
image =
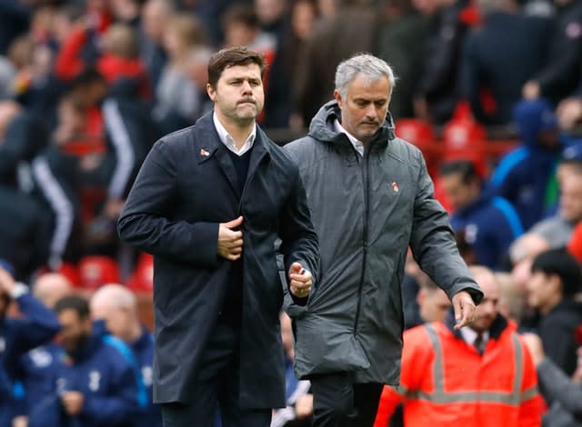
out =
<path fill-rule="evenodd" d="M 313 275 L 313 283 L 316 287 L 319 272 L 319 243 L 314 225 L 311 222 L 303 180 L 295 164 L 293 164 L 293 168 L 291 192 L 279 214 L 279 223 L 281 224 L 279 229 L 280 252 L 285 260 L 285 274 L 289 271 L 292 263 L 301 263 Z M 299 305 L 307 303 L 307 297 L 297 298 L 292 293 L 289 292 L 289 294 L 295 303 Z"/>

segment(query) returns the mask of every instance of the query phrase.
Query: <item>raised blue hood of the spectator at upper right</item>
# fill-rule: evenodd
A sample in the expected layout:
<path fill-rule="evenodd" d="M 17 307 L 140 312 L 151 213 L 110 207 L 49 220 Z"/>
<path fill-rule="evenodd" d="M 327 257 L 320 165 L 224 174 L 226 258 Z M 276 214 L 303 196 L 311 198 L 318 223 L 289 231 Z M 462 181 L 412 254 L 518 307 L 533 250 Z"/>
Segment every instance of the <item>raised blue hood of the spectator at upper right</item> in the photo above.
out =
<path fill-rule="evenodd" d="M 552 106 L 544 99 L 522 101 L 516 105 L 514 120 L 524 145 L 538 146 L 537 135 L 543 131 L 557 131 L 557 117 Z"/>

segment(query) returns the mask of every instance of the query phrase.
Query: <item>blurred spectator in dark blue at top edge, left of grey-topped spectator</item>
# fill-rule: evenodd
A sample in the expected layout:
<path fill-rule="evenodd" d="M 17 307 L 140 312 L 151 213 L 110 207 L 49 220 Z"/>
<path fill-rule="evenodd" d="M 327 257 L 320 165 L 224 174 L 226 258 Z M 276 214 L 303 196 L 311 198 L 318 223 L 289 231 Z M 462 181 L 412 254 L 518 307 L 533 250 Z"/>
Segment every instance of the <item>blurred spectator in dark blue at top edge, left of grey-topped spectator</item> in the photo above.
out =
<path fill-rule="evenodd" d="M 164 47 L 164 33 L 170 17 L 175 14 L 172 2 L 148 0 L 141 12 L 140 55 L 152 88 L 156 92 L 162 70 L 166 66 L 167 52 Z M 157 99 L 157 97 L 156 97 Z"/>

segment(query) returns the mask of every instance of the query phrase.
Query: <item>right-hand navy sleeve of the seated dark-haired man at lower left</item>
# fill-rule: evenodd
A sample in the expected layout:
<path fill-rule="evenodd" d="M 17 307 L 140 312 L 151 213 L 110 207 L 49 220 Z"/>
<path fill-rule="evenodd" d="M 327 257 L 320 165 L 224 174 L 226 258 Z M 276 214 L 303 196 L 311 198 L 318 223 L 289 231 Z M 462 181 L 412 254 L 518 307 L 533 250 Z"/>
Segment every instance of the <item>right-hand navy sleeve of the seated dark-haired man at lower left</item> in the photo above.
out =
<path fill-rule="evenodd" d="M 130 423 L 138 413 L 135 372 L 120 355 L 112 372 L 109 391 L 115 395 L 86 395 L 81 417 L 94 420 L 97 425 L 121 425 Z"/>

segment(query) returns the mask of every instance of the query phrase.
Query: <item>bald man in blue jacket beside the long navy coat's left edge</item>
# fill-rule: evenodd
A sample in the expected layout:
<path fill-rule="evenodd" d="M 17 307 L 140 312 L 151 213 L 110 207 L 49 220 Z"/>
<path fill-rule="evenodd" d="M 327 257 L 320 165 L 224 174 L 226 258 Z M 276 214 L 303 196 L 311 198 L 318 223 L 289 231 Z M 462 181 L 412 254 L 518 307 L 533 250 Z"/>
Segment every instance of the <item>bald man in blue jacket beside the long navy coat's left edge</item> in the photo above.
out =
<path fill-rule="evenodd" d="M 154 338 L 137 318 L 134 293 L 121 284 L 105 284 L 91 297 L 90 310 L 94 321 L 105 321 L 106 330 L 129 346 L 137 362 L 146 395 L 135 426 L 161 427 L 162 412 L 152 397 Z"/>

